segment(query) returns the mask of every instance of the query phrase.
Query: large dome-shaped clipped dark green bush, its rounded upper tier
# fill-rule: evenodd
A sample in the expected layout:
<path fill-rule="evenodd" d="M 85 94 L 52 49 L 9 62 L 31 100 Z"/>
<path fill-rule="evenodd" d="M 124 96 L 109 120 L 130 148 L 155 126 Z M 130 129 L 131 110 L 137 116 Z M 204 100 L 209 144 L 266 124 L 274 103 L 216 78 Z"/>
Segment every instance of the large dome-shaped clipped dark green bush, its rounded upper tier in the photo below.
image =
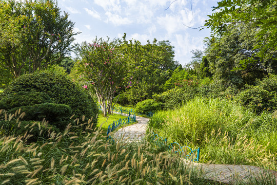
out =
<path fill-rule="evenodd" d="M 72 109 L 72 114 L 75 114 L 75 118 L 85 115 L 87 119 L 93 117 L 93 122 L 97 122 L 98 108 L 95 102 L 81 86 L 67 76 L 47 71 L 23 75 L 4 90 L 4 95 L 20 91 L 46 93 L 53 103 L 68 105 Z"/>

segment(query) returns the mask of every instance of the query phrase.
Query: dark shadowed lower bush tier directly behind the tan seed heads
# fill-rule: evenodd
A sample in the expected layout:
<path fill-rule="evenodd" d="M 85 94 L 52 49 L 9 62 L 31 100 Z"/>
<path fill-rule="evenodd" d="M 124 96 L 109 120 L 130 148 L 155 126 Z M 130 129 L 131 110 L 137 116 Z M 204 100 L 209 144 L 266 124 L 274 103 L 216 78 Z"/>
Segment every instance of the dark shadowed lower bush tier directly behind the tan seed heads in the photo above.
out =
<path fill-rule="evenodd" d="M 25 112 L 25 116 L 22 118 L 23 120 L 42 121 L 45 118 L 50 124 L 60 128 L 61 131 L 63 131 L 67 125 L 63 120 L 68 120 L 72 113 L 68 105 L 42 103 L 12 108 L 8 110 L 8 114 L 14 114 L 19 108 L 21 109 L 21 113 Z"/>

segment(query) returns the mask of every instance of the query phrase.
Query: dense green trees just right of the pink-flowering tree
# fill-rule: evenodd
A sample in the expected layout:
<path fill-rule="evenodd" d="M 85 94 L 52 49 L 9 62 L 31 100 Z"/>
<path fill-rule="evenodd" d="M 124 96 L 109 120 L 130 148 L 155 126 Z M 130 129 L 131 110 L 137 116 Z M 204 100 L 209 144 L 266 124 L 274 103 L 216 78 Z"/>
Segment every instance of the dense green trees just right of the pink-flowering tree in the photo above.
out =
<path fill-rule="evenodd" d="M 126 94 L 131 104 L 151 98 L 154 93 L 163 91 L 163 84 L 170 78 L 171 71 L 179 66 L 174 61 L 173 46 L 169 41 L 142 45 L 139 41 L 126 41 L 123 36 L 121 45 L 124 57 L 128 61 L 128 80 Z"/>

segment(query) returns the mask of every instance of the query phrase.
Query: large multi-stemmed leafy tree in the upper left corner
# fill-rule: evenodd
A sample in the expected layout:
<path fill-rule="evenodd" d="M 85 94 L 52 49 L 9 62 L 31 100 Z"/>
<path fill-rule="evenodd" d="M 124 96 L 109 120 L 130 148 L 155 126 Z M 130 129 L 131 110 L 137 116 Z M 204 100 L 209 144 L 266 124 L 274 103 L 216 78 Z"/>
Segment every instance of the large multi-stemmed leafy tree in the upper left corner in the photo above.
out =
<path fill-rule="evenodd" d="M 14 78 L 62 61 L 71 51 L 74 23 L 53 0 L 0 1 L 0 65 Z"/>

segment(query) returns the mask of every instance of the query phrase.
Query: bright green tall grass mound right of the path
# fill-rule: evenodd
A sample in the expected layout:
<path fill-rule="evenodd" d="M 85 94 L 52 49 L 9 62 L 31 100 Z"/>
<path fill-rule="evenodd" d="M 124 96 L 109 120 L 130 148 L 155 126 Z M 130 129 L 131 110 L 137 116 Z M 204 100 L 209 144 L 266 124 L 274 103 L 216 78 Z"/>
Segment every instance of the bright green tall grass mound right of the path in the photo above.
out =
<path fill-rule="evenodd" d="M 277 167 L 275 116 L 256 115 L 230 100 L 197 97 L 155 114 L 149 127 L 169 142 L 201 147 L 201 162 Z"/>

